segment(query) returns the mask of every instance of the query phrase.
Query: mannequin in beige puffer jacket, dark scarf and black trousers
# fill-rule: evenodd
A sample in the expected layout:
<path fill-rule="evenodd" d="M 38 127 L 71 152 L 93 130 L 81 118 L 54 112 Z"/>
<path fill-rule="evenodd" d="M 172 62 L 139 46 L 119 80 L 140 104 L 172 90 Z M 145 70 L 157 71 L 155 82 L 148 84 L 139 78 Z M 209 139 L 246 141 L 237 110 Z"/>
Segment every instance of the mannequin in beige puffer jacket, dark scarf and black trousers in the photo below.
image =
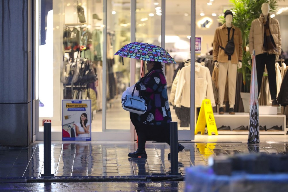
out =
<path fill-rule="evenodd" d="M 269 10 L 269 4 L 263 3 L 262 14 L 252 21 L 249 32 L 249 48 L 250 54 L 255 49 L 258 94 L 266 64 L 272 106 L 279 106 L 276 99 L 275 60 L 278 60 L 281 54 L 281 32 L 278 20 L 270 17 Z"/>

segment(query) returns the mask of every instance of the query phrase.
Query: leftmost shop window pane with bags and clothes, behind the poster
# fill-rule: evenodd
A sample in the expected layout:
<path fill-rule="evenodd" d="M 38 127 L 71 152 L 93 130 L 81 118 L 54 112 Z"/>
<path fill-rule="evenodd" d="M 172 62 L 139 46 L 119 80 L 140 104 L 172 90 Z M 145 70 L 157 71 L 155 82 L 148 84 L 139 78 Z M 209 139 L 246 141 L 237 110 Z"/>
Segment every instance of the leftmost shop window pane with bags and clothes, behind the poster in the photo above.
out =
<path fill-rule="evenodd" d="M 51 10 L 41 14 L 45 11 L 46 44 L 39 46 L 39 131 L 43 119 L 52 120 L 52 131 L 62 131 L 62 99 L 91 99 L 92 132 L 102 131 L 103 1 L 53 0 Z"/>

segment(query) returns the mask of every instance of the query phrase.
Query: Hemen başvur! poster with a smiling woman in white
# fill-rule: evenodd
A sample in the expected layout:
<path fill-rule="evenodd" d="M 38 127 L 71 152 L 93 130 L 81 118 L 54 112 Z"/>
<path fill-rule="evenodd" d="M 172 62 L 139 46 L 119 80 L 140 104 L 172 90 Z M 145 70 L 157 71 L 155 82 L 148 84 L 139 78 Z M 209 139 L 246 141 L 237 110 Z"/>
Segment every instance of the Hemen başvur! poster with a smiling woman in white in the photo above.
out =
<path fill-rule="evenodd" d="M 91 141 L 91 100 L 62 100 L 62 141 Z"/>

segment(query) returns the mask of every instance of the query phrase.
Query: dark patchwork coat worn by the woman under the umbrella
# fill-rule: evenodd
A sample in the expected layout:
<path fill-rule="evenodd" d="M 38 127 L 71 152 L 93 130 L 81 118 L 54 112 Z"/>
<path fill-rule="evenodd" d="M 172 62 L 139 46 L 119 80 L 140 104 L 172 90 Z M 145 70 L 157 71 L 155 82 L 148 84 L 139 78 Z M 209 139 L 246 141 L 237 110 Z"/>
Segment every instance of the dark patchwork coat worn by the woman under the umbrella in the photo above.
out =
<path fill-rule="evenodd" d="M 167 94 L 167 82 L 162 69 L 152 68 L 137 84 L 147 103 L 147 111 L 137 120 L 145 125 L 164 125 L 172 121 Z"/>

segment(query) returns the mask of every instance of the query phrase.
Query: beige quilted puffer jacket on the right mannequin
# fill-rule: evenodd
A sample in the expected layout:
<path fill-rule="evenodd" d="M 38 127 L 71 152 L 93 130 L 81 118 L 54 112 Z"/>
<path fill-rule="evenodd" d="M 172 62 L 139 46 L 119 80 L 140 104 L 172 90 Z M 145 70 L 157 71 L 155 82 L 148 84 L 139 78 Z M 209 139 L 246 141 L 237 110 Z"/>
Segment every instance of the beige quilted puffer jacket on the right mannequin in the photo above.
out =
<path fill-rule="evenodd" d="M 270 14 L 268 14 L 269 18 L 269 29 L 271 35 L 276 44 L 276 48 L 278 50 L 268 50 L 269 54 L 281 55 L 281 32 L 280 25 L 277 19 L 270 18 Z M 263 43 L 264 43 L 264 16 L 260 14 L 259 18 L 254 19 L 251 23 L 251 28 L 249 32 L 249 50 L 250 54 L 253 53 L 253 49 L 255 49 L 255 55 L 263 54 Z"/>

